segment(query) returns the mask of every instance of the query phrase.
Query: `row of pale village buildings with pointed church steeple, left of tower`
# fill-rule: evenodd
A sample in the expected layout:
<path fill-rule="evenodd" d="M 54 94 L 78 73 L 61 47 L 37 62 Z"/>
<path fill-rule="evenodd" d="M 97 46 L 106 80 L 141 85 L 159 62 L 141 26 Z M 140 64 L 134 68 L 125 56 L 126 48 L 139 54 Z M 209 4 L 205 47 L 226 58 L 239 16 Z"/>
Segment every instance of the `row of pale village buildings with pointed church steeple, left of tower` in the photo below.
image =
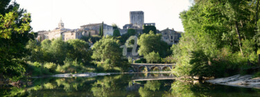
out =
<path fill-rule="evenodd" d="M 58 24 L 58 28 L 55 28 L 54 30 L 41 30 L 38 31 L 37 34 L 37 40 L 42 42 L 44 39 L 57 39 L 59 37 L 62 37 L 64 41 L 67 41 L 69 39 L 80 39 L 81 37 L 89 36 L 89 35 L 98 35 L 99 34 L 99 28 L 102 26 L 102 24 L 87 24 L 84 26 L 80 26 L 79 29 L 69 29 L 64 28 L 64 23 L 62 20 L 60 20 Z M 103 32 L 104 35 L 113 35 L 113 27 L 109 26 L 107 24 L 103 25 Z"/>

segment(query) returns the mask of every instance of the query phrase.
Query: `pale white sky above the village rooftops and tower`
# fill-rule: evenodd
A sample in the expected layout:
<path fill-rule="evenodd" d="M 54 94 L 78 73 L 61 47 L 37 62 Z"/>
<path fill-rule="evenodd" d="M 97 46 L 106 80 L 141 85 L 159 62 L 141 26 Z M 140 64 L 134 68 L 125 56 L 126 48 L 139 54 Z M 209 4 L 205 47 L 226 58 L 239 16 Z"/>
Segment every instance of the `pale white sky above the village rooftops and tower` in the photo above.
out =
<path fill-rule="evenodd" d="M 144 22 L 159 30 L 184 31 L 180 12 L 192 6 L 191 0 L 16 0 L 31 13 L 33 31 L 53 30 L 60 19 L 65 28 L 85 24 L 113 23 L 123 28 L 130 23 L 130 11 L 144 11 Z"/>

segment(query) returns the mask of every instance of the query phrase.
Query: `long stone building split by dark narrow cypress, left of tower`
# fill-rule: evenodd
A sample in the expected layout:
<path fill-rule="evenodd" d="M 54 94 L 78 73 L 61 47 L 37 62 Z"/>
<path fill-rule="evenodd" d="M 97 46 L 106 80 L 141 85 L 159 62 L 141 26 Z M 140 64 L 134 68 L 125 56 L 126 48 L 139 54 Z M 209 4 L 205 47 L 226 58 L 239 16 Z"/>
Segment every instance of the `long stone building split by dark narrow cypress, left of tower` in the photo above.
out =
<path fill-rule="evenodd" d="M 101 26 L 102 26 L 102 23 L 100 23 L 100 24 L 87 24 L 87 25 L 80 26 L 80 30 L 83 30 L 84 33 L 89 32 L 90 35 L 98 35 L 99 34 L 99 28 Z M 107 24 L 103 25 L 104 36 L 113 35 L 113 31 L 114 30 L 113 30 L 112 26 L 109 26 Z"/>

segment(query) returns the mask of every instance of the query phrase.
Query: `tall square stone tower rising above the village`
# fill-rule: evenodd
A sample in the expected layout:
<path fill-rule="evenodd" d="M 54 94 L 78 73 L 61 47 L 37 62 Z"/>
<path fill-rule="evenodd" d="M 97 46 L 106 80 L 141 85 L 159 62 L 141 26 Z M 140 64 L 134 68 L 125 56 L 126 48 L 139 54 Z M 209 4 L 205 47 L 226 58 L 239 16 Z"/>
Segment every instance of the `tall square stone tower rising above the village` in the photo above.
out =
<path fill-rule="evenodd" d="M 144 12 L 132 11 L 130 12 L 130 24 L 137 28 L 143 28 L 144 25 Z"/>

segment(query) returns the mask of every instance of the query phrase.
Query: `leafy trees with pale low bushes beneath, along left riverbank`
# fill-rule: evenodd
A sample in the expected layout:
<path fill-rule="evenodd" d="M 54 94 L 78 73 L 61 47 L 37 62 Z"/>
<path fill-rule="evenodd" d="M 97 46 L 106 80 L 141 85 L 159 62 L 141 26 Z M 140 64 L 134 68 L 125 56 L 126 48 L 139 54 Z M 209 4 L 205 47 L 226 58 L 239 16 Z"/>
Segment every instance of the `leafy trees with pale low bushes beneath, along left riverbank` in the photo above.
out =
<path fill-rule="evenodd" d="M 26 48 L 31 51 L 26 60 L 33 62 L 28 64 L 27 72 L 32 72 L 33 76 L 94 71 L 89 68 L 92 67 L 92 51 L 83 40 L 70 39 L 64 42 L 58 38 L 53 41 L 44 39 L 41 43 L 31 40 Z"/>

